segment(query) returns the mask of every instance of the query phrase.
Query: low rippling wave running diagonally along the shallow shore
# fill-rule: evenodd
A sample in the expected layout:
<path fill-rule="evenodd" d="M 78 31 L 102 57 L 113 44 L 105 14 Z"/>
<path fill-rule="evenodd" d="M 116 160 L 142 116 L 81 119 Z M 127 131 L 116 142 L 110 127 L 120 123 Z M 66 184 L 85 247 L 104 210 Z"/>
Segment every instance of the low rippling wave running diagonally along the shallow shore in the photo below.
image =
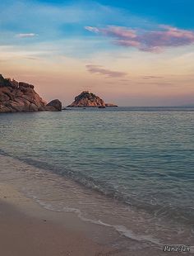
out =
<path fill-rule="evenodd" d="M 48 164 L 45 161 L 40 161 L 37 159 L 31 159 L 30 157 L 20 157 L 14 156 L 7 153 L 6 151 L 0 149 L 0 154 L 4 156 L 12 157 L 13 159 L 20 160 L 25 164 L 29 164 L 36 168 L 41 168 L 46 171 L 57 173 L 59 175 L 65 176 L 72 179 L 76 183 L 79 183 L 81 186 L 89 188 L 95 192 L 98 192 L 105 197 L 113 198 L 113 200 L 119 201 L 126 204 L 127 206 L 133 207 L 135 209 L 146 211 L 150 213 L 155 218 L 164 218 L 173 220 L 175 222 L 181 222 L 186 225 L 192 225 L 194 219 L 194 211 L 191 207 L 187 209 L 185 207 L 174 207 L 174 206 L 162 206 L 162 205 L 153 205 L 144 200 L 138 200 L 137 198 L 130 197 L 124 192 L 118 191 L 110 184 L 104 183 L 103 181 L 96 181 L 95 178 L 89 177 L 81 171 L 74 171 L 71 168 L 60 168 L 53 164 Z"/>

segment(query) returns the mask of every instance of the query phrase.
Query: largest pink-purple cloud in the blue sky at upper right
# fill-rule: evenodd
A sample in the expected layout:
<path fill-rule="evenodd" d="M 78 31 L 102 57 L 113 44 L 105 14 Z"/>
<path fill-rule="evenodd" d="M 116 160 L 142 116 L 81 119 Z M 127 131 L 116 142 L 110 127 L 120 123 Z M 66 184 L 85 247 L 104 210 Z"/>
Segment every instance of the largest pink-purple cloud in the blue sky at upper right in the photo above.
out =
<path fill-rule="evenodd" d="M 194 31 L 173 26 L 160 25 L 155 31 L 135 30 L 123 26 L 106 26 L 105 28 L 85 26 L 85 30 L 112 37 L 117 45 L 155 53 L 163 51 L 166 47 L 194 44 Z"/>

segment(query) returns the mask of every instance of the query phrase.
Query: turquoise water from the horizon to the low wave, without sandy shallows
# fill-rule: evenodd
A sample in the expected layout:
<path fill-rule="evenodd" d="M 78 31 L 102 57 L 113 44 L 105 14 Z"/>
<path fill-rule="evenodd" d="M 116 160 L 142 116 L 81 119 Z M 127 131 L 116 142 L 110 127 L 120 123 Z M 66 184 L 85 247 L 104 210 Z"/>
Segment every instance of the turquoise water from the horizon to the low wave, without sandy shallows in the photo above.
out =
<path fill-rule="evenodd" d="M 193 127 L 192 108 L 2 114 L 0 154 L 193 227 Z"/>

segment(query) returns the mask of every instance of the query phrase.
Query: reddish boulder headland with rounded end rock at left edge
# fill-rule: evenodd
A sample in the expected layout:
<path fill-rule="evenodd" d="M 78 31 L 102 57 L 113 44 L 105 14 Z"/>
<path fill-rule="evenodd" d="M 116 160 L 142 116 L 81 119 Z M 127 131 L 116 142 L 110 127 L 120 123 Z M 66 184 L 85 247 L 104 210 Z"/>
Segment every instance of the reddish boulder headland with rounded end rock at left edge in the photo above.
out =
<path fill-rule="evenodd" d="M 56 99 L 48 104 L 35 92 L 34 85 L 3 78 L 0 74 L 0 113 L 19 111 L 61 111 Z"/>

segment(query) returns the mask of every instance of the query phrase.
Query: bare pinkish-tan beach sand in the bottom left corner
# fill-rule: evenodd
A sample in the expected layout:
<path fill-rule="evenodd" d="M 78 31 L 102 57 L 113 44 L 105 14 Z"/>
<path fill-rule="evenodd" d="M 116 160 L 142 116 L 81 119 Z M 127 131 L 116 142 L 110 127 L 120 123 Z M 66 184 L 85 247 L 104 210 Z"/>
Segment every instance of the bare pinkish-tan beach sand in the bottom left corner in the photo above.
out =
<path fill-rule="evenodd" d="M 62 222 L 63 219 L 63 222 Z M 0 255 L 103 256 L 127 255 L 95 243 L 81 231 L 80 220 L 48 211 L 0 184 Z"/>

